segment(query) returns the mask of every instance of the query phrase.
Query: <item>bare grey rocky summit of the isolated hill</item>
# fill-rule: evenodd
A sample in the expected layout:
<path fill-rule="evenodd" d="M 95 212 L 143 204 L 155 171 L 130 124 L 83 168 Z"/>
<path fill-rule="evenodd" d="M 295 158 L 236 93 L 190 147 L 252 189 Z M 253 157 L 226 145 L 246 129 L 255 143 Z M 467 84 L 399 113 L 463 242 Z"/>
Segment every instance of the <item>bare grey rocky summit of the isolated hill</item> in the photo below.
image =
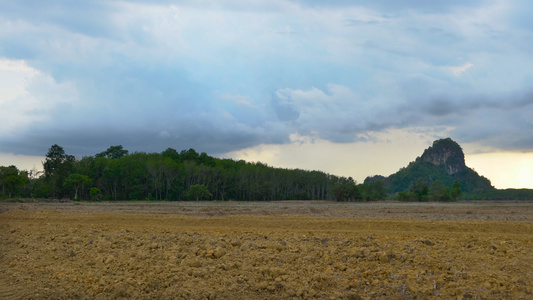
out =
<path fill-rule="evenodd" d="M 450 138 L 434 141 L 433 146 L 424 151 L 421 159 L 434 165 L 444 165 L 450 175 L 467 168 L 463 149 Z"/>

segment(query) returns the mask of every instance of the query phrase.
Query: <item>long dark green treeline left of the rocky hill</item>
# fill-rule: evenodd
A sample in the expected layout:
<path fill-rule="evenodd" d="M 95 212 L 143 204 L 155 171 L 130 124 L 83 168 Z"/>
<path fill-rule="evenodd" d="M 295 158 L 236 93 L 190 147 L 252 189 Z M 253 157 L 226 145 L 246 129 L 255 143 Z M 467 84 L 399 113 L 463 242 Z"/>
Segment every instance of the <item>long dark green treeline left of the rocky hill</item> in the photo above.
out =
<path fill-rule="evenodd" d="M 382 185 L 350 177 L 214 158 L 194 149 L 161 153 L 112 146 L 76 159 L 53 145 L 44 171 L 2 167 L 2 197 L 85 200 L 382 200 Z M 4 172 L 4 169 L 9 172 Z M 9 174 L 8 174 L 9 173 Z M 15 175 L 16 173 L 16 175 Z M 15 179 L 17 178 L 17 179 Z"/>

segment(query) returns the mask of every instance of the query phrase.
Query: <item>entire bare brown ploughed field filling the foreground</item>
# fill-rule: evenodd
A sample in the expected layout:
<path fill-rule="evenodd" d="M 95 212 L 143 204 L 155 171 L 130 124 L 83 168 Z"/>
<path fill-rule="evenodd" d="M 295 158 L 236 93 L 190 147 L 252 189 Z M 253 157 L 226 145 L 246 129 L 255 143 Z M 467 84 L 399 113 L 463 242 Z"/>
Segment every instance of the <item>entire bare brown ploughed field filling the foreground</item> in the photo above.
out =
<path fill-rule="evenodd" d="M 533 299 L 533 203 L 0 203 L 1 299 Z"/>

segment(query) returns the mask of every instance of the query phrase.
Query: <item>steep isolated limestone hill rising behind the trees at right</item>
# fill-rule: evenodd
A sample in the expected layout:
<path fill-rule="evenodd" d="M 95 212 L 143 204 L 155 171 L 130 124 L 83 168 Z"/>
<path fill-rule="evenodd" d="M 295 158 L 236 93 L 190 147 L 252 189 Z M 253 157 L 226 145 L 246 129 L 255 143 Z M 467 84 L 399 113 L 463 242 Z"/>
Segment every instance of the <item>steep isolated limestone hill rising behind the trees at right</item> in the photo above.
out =
<path fill-rule="evenodd" d="M 383 180 L 389 193 L 397 193 L 409 191 L 419 179 L 429 185 L 440 180 L 448 187 L 459 181 L 461 189 L 466 193 L 486 193 L 494 190 L 490 180 L 466 166 L 463 149 L 451 138 L 434 141 L 422 156 L 398 172 L 388 177 L 367 177 L 365 183 Z"/>

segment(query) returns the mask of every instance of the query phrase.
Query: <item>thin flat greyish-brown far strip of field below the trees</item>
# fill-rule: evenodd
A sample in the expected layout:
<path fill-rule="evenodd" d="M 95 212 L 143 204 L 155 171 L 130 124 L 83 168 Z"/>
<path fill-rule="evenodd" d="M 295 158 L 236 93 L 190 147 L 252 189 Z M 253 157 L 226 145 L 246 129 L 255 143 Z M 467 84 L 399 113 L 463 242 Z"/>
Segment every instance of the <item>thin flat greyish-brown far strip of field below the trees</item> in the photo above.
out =
<path fill-rule="evenodd" d="M 533 222 L 531 201 L 476 202 L 0 202 L 0 213 L 21 209 L 69 213 L 173 214 L 186 216 L 292 215 L 335 218 L 419 219 L 428 221 L 525 221 Z"/>

